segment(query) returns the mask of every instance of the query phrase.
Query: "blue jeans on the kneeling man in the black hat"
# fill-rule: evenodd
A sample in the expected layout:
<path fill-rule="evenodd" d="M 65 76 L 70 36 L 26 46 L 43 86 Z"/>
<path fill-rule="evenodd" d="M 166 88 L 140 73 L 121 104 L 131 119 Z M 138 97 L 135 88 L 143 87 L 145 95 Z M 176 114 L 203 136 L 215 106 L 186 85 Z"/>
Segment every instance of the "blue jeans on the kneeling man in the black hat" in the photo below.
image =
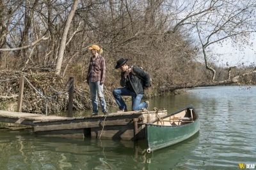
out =
<path fill-rule="evenodd" d="M 136 95 L 136 93 L 132 92 L 127 88 L 114 89 L 113 96 L 115 97 L 116 104 L 118 104 L 120 110 L 127 109 L 127 105 L 125 104 L 121 96 L 132 97 L 132 111 L 140 111 L 142 108 L 147 107 L 147 104 L 145 102 L 140 103 L 143 95 Z"/>

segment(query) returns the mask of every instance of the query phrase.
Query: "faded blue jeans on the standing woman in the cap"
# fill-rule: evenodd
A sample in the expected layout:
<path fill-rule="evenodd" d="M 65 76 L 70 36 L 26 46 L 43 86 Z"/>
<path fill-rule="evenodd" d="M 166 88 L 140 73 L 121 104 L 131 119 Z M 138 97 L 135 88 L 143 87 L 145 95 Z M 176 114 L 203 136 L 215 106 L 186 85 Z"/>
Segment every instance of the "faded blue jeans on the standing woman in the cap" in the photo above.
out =
<path fill-rule="evenodd" d="M 100 105 L 102 107 L 102 112 L 108 112 L 107 105 L 105 102 L 104 98 L 104 93 L 103 93 L 103 84 L 100 84 L 100 81 L 97 82 L 92 82 L 91 81 L 92 77 L 90 77 L 89 80 L 89 86 L 90 86 L 90 91 L 91 91 L 91 96 L 92 96 L 92 110 L 95 113 L 98 113 L 98 101 L 97 101 L 97 94 L 99 96 L 100 100 Z"/>

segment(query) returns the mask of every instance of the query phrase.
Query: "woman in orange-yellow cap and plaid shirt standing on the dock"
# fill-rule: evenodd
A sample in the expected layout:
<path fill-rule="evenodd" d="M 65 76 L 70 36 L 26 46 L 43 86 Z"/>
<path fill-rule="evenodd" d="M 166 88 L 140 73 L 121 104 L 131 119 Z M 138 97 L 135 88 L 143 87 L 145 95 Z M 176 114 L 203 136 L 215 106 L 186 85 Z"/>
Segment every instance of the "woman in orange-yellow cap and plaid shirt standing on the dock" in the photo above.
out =
<path fill-rule="evenodd" d="M 102 49 L 100 49 L 98 45 L 92 45 L 92 47 L 89 47 L 89 49 L 91 50 L 93 56 L 90 59 L 90 65 L 88 68 L 86 80 L 87 84 L 89 84 L 90 86 L 90 91 L 92 95 L 93 113 L 91 114 L 91 116 L 96 116 L 99 112 L 97 95 L 100 100 L 102 112 L 104 113 L 104 115 L 107 115 L 108 109 L 103 93 L 103 84 L 106 77 L 105 59 L 100 55 L 102 53 Z"/>

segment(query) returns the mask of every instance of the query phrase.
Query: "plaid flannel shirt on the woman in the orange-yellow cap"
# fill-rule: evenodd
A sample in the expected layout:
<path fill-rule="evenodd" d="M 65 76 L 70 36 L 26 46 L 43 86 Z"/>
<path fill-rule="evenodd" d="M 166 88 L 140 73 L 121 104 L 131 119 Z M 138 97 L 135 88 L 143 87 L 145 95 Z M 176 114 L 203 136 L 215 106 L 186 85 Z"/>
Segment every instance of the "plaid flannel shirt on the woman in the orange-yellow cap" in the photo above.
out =
<path fill-rule="evenodd" d="M 100 56 L 97 59 L 93 60 L 93 57 L 90 59 L 90 65 L 88 68 L 87 81 L 89 82 L 90 76 L 92 76 L 92 82 L 100 81 L 100 84 L 105 82 L 106 77 L 106 65 L 105 59 Z"/>

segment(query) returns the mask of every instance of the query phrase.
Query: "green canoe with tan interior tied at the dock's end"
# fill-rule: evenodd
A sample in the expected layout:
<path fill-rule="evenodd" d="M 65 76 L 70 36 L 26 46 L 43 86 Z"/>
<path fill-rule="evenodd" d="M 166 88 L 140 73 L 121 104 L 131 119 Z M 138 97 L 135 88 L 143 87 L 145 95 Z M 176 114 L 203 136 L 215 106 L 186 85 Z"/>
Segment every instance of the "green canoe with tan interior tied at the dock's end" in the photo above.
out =
<path fill-rule="evenodd" d="M 146 123 L 147 152 L 153 152 L 179 143 L 196 134 L 200 128 L 193 105 Z"/>

